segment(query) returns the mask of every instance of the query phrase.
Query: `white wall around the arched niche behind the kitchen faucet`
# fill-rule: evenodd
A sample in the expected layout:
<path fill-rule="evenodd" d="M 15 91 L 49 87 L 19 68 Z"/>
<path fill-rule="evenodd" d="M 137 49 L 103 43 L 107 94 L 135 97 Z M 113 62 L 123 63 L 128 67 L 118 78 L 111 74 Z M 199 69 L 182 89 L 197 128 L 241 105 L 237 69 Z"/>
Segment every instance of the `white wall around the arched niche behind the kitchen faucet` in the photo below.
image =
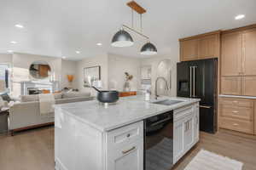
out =
<path fill-rule="evenodd" d="M 172 89 L 171 96 L 177 95 L 177 62 L 179 61 L 179 46 L 178 43 L 172 46 L 172 54 L 170 56 L 152 56 L 148 59 L 141 59 L 141 66 L 151 65 L 151 85 L 152 85 L 152 94 L 154 94 L 154 82 L 157 78 L 157 67 L 160 64 L 161 60 L 171 59 L 172 61 Z"/>

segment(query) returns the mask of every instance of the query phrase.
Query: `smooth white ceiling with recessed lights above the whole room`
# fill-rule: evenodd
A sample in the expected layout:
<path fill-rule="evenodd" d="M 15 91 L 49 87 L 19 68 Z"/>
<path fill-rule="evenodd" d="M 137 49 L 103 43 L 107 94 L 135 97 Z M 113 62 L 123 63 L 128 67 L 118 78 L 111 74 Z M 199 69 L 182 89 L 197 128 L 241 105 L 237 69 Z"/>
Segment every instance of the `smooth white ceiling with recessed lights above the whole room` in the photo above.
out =
<path fill-rule="evenodd" d="M 113 34 L 121 24 L 131 25 L 129 0 L 1 0 L 0 53 L 13 50 L 26 54 L 66 56 L 83 59 L 113 53 L 132 57 L 145 43 L 132 35 L 135 45 L 113 48 Z M 255 0 L 137 0 L 143 14 L 143 32 L 150 37 L 158 55 L 177 54 L 177 39 L 207 31 L 230 29 L 256 23 Z M 234 20 L 246 14 L 243 20 Z M 135 26 L 138 25 L 135 15 Z M 21 24 L 23 29 L 15 27 Z M 17 42 L 16 44 L 10 43 Z M 96 46 L 102 42 L 102 46 Z M 81 53 L 76 54 L 79 50 Z"/>

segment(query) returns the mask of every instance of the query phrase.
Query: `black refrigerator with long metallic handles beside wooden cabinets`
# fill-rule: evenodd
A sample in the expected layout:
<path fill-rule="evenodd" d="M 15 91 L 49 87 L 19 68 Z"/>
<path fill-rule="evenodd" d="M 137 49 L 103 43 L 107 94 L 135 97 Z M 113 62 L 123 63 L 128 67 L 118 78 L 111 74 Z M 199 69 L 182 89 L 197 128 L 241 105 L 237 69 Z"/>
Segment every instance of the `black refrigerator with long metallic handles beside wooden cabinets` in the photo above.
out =
<path fill-rule="evenodd" d="M 177 63 L 177 96 L 199 98 L 200 130 L 217 129 L 218 60 L 201 59 Z"/>

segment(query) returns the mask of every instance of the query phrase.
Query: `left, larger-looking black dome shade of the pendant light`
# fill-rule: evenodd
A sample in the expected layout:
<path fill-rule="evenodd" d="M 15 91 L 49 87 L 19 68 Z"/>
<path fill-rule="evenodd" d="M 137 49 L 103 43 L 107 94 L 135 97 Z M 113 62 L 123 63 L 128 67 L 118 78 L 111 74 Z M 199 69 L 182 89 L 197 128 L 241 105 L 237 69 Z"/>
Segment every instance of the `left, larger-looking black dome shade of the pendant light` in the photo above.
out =
<path fill-rule="evenodd" d="M 121 29 L 113 36 L 111 45 L 120 48 L 130 47 L 133 45 L 133 39 L 127 31 Z"/>

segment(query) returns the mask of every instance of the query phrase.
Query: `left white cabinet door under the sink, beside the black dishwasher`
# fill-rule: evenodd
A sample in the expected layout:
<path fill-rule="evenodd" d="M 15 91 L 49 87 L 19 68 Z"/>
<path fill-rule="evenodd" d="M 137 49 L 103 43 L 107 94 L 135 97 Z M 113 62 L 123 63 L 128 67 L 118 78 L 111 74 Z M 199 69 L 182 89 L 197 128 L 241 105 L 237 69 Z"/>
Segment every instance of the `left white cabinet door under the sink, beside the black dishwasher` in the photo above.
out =
<path fill-rule="evenodd" d="M 184 119 L 173 123 L 173 163 L 176 163 L 184 151 Z"/>

